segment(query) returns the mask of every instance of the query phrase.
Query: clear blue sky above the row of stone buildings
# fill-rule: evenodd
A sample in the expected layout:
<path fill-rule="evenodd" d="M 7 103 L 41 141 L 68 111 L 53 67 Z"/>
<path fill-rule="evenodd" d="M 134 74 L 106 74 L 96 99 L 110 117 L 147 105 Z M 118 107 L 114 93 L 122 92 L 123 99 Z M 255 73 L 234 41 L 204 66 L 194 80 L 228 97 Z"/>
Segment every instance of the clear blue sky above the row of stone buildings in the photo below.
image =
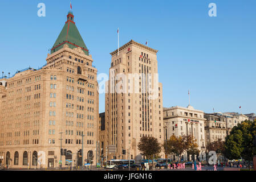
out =
<path fill-rule="evenodd" d="M 37 15 L 38 3 L 46 16 Z M 216 3 L 217 17 L 208 15 Z M 69 0 L 1 1 L 0 71 L 46 63 L 70 10 Z M 133 39 L 159 50 L 163 104 L 212 112 L 256 112 L 255 0 L 72 1 L 75 22 L 98 73 L 107 73 L 110 52 Z M 1 74 L 2 76 L 2 74 Z M 104 111 L 104 94 L 99 96 Z"/>

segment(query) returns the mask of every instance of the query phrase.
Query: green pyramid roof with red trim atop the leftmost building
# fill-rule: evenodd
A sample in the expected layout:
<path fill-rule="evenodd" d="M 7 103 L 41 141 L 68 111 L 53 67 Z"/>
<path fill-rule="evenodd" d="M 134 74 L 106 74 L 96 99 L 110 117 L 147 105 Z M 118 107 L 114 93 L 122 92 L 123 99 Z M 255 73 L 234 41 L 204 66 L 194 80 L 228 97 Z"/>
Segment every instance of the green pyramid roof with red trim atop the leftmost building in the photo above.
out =
<path fill-rule="evenodd" d="M 78 28 L 76 28 L 75 22 L 73 20 L 74 15 L 72 11 L 69 11 L 67 15 L 67 22 L 64 24 L 58 39 L 54 43 L 54 46 L 51 49 L 51 53 L 58 51 L 59 49 L 63 48 L 64 44 L 67 44 L 71 49 L 80 47 L 87 56 L 89 55 L 86 44 L 84 44 L 83 38 L 80 35 Z"/>

